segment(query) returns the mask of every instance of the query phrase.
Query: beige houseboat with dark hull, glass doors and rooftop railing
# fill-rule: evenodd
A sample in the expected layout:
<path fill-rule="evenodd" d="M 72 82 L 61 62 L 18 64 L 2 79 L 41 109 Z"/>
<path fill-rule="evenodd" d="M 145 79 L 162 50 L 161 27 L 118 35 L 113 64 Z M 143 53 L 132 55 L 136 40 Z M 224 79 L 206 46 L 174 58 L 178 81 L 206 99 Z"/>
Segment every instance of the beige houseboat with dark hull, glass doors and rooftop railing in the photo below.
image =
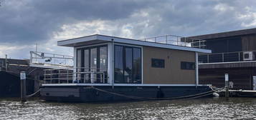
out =
<path fill-rule="evenodd" d="M 58 41 L 74 48 L 74 66 L 44 70 L 40 94 L 49 101 L 186 99 L 212 95 L 199 84 L 198 54 L 204 41 L 158 36 L 125 39 L 91 35 Z"/>

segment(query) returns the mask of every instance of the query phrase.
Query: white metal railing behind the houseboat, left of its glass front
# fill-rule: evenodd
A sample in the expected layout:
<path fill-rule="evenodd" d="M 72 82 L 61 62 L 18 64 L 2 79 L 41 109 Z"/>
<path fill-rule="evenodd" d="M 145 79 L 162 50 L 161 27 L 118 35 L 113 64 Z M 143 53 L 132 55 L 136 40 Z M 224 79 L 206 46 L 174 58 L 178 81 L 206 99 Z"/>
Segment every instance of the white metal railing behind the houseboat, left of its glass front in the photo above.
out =
<path fill-rule="evenodd" d="M 30 51 L 30 64 L 71 67 L 73 66 L 73 57 L 61 54 Z"/>

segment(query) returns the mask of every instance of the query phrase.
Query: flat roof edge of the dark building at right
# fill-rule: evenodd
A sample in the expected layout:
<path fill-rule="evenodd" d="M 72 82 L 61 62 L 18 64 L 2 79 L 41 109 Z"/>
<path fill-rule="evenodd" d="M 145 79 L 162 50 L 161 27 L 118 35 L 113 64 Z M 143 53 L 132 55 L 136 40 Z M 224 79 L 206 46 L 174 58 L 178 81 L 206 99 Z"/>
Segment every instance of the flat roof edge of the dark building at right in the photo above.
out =
<path fill-rule="evenodd" d="M 199 36 L 189 36 L 189 38 L 195 38 L 195 39 L 217 39 L 217 38 L 224 38 L 229 36 L 242 36 L 242 35 L 248 35 L 248 34 L 256 34 L 256 28 L 254 29 L 241 29 L 237 31 L 225 31 L 215 34 L 204 34 Z"/>

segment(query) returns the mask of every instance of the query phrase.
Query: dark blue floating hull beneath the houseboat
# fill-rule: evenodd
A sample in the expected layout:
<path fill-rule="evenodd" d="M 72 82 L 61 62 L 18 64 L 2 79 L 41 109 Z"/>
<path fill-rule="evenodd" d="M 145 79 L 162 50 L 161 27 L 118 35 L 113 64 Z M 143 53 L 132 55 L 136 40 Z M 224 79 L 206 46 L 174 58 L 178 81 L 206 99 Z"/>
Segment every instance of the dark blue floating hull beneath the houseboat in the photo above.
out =
<path fill-rule="evenodd" d="M 130 101 L 192 99 L 212 96 L 209 86 L 42 86 L 47 101 Z"/>

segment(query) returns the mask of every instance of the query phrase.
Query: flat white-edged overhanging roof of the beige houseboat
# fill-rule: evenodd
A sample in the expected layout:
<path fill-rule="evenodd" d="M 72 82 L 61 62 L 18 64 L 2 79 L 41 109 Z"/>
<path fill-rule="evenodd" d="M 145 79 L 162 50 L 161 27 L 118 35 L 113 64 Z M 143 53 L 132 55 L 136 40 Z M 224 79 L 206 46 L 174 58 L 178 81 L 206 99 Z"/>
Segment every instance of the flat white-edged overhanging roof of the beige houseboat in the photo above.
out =
<path fill-rule="evenodd" d="M 80 38 L 75 39 L 67 39 L 63 41 L 57 41 L 58 46 L 70 46 L 70 47 L 77 47 L 77 46 L 87 46 L 91 44 L 101 44 L 106 42 L 115 42 L 120 44 L 132 44 L 138 46 L 153 46 L 158 48 L 164 49 L 176 49 L 176 50 L 183 50 L 183 51 L 197 51 L 202 53 L 212 53 L 209 49 L 198 49 L 189 46 L 178 46 L 173 44 L 161 44 L 151 41 L 141 41 L 137 39 L 125 39 L 115 36 L 105 36 L 100 34 L 94 34 L 90 36 L 83 36 Z"/>

